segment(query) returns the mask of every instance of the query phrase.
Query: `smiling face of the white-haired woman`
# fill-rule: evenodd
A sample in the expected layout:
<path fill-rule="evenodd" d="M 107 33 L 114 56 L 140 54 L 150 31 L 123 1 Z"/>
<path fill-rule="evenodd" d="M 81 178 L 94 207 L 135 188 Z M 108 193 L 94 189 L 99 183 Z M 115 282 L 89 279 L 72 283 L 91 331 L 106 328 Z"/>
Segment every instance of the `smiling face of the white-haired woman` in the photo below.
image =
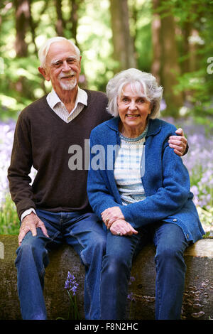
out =
<path fill-rule="evenodd" d="M 142 87 L 138 95 L 131 90 L 131 84 L 125 85 L 118 97 L 118 109 L 124 134 L 141 134 L 145 130 L 151 102 L 143 97 Z"/>

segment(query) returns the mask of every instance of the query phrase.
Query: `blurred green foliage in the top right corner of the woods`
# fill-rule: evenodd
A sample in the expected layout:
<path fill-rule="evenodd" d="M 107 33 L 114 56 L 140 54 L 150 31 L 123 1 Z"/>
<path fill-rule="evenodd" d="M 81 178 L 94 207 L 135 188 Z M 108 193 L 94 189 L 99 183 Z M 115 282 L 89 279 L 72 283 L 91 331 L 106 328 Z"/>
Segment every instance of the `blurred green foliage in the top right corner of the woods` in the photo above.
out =
<path fill-rule="evenodd" d="M 177 26 L 182 30 L 178 36 L 180 65 L 185 60 L 190 62 L 192 53 L 194 53 L 194 60 L 196 59 L 194 70 L 185 69 L 178 77 L 175 91 L 185 94 L 186 102 L 190 104 L 195 117 L 200 114 L 202 117 L 207 117 L 213 114 L 213 71 L 209 64 L 213 63 L 213 6 L 209 0 L 163 0 L 158 12 L 163 16 L 165 11 L 175 17 Z M 183 33 L 187 25 L 191 28 L 189 43 L 192 50 L 185 53 L 182 45 Z"/>

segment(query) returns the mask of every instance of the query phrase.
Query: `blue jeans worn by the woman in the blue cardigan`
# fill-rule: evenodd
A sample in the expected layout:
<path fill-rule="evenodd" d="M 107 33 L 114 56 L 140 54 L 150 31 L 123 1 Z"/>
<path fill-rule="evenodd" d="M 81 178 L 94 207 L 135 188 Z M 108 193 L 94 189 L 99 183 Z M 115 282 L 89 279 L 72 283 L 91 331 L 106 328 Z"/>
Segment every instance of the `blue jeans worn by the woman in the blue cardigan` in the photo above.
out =
<path fill-rule="evenodd" d="M 108 231 L 101 279 L 102 319 L 126 317 L 132 259 L 150 236 L 156 247 L 155 319 L 180 319 L 186 271 L 183 254 L 188 244 L 182 229 L 167 222 L 149 225 L 131 237 L 119 237 Z"/>

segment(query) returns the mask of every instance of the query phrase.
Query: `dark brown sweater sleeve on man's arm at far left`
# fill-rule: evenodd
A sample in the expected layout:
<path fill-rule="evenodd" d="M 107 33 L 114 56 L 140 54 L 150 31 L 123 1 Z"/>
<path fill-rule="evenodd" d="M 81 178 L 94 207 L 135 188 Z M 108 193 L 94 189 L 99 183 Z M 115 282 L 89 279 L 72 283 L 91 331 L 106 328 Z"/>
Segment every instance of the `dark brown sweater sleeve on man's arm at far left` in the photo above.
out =
<path fill-rule="evenodd" d="M 32 164 L 30 124 L 28 124 L 22 112 L 16 124 L 11 164 L 8 170 L 11 198 L 16 204 L 19 218 L 21 218 L 21 214 L 25 210 L 29 208 L 35 209 L 33 191 L 30 185 L 31 178 L 29 177 Z"/>

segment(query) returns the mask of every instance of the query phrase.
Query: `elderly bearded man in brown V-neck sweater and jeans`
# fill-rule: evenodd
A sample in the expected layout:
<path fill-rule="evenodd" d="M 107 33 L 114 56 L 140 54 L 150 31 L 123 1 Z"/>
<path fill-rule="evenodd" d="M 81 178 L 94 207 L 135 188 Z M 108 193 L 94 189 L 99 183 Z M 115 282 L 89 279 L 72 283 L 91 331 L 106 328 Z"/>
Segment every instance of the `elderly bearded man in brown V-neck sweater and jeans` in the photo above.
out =
<path fill-rule="evenodd" d="M 69 148 L 80 146 L 84 158 L 84 140 L 94 126 L 110 118 L 107 97 L 78 87 L 80 51 L 66 38 L 48 40 L 39 58 L 38 70 L 51 81 L 53 90 L 18 117 L 8 173 L 21 220 L 16 252 L 21 313 L 23 319 L 47 318 L 43 286 L 48 252 L 67 242 L 85 266 L 85 318 L 99 319 L 105 234 L 87 200 L 87 168 L 70 168 L 70 153 L 74 152 Z M 181 129 L 179 134 L 170 140 L 175 152 L 182 155 L 186 139 Z M 37 174 L 31 185 L 32 166 Z"/>

